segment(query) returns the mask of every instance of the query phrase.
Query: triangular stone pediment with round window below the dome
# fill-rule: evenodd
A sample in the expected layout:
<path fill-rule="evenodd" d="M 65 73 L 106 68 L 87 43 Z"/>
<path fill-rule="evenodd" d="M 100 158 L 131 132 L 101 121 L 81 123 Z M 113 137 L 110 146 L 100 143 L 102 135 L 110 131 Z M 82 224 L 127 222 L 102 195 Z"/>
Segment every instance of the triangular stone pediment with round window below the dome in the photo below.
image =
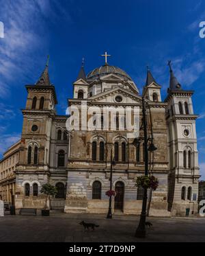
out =
<path fill-rule="evenodd" d="M 121 102 L 117 102 L 115 97 L 122 97 Z M 98 95 L 94 95 L 89 98 L 90 102 L 95 103 L 115 103 L 115 104 L 137 104 L 141 103 L 141 97 L 137 95 L 137 93 L 133 93 L 126 89 L 116 88 L 111 89 L 109 91 L 105 91 L 104 93 L 99 93 Z"/>

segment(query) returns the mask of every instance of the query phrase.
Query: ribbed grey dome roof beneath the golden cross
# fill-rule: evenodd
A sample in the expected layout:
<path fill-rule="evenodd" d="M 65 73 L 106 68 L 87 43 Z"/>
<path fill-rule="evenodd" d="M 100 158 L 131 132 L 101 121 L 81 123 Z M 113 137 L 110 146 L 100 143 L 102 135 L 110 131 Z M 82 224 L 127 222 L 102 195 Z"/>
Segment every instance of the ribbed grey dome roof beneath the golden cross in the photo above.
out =
<path fill-rule="evenodd" d="M 115 73 L 116 75 L 122 76 L 122 78 L 132 80 L 131 77 L 124 70 L 120 69 L 120 67 L 110 65 L 103 65 L 92 70 L 90 73 L 88 73 L 87 80 L 92 80 L 98 78 L 98 76 L 107 75 L 109 73 Z"/>

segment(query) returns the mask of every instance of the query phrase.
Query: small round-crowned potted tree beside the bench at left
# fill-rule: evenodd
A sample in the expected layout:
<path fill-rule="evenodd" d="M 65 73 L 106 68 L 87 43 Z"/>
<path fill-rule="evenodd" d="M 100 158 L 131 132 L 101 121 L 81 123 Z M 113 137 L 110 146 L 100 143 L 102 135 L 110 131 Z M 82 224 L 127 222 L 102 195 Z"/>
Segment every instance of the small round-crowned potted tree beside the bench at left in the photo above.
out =
<path fill-rule="evenodd" d="M 40 189 L 40 193 L 46 195 L 46 202 L 44 208 L 41 210 L 42 216 L 50 215 L 50 206 L 51 206 L 51 196 L 55 196 L 57 194 L 57 188 L 49 183 L 42 185 L 42 189 Z"/>

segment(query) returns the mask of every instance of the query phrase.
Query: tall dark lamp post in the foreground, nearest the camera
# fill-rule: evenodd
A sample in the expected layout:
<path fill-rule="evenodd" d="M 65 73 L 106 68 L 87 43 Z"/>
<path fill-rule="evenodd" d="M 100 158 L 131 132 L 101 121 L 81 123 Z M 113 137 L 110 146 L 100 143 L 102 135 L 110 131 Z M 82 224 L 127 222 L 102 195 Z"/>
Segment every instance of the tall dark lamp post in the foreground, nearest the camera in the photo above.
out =
<path fill-rule="evenodd" d="M 148 132 L 147 132 L 147 119 L 146 119 L 146 108 L 145 101 L 142 97 L 142 114 L 143 114 L 143 134 L 144 134 L 144 159 L 145 159 L 145 176 L 148 176 L 148 150 L 154 151 L 156 147 L 153 144 L 151 139 L 150 146 L 148 148 Z M 143 189 L 143 200 L 142 200 L 142 209 L 141 216 L 139 220 L 139 225 L 137 226 L 137 230 L 135 232 L 135 237 L 146 237 L 146 207 L 147 207 L 147 199 L 148 199 L 148 189 Z"/>

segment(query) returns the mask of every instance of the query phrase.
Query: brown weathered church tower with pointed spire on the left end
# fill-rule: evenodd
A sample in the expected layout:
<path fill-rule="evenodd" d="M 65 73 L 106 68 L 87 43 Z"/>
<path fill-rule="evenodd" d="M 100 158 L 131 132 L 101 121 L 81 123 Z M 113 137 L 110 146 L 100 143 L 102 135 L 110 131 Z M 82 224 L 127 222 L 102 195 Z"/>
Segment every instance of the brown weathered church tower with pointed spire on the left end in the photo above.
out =
<path fill-rule="evenodd" d="M 26 85 L 27 102 L 23 113 L 20 156 L 16 168 L 16 207 L 42 205 L 37 197 L 40 187 L 49 180 L 51 127 L 57 98 L 49 79 L 48 61 L 36 84 Z M 35 197 L 36 196 L 36 197 Z M 35 202 L 42 200 L 42 202 Z"/>

